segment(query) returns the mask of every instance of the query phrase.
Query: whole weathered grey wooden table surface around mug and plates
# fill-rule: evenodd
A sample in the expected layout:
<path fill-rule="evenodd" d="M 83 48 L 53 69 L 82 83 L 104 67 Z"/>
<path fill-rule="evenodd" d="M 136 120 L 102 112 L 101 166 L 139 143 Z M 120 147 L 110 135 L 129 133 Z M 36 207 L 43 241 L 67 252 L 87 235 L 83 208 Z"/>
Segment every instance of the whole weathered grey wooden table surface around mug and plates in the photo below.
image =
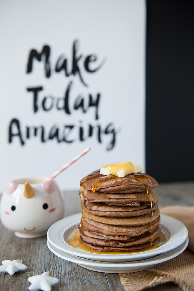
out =
<path fill-rule="evenodd" d="M 194 205 L 194 182 L 160 184 L 155 192 L 159 207 L 167 205 Z M 81 212 L 79 191 L 65 191 L 65 217 Z M 47 247 L 47 238 L 21 239 L 7 230 L 0 223 L 0 265 L 3 260 L 22 260 L 28 266 L 26 271 L 16 272 L 13 276 L 0 273 L 0 290 L 28 290 L 30 276 L 49 272 L 50 276 L 59 279 L 52 286 L 53 291 L 124 291 L 119 274 L 95 272 L 79 265 L 67 262 L 51 253 Z M 181 291 L 173 284 L 166 283 L 149 291 Z"/>

